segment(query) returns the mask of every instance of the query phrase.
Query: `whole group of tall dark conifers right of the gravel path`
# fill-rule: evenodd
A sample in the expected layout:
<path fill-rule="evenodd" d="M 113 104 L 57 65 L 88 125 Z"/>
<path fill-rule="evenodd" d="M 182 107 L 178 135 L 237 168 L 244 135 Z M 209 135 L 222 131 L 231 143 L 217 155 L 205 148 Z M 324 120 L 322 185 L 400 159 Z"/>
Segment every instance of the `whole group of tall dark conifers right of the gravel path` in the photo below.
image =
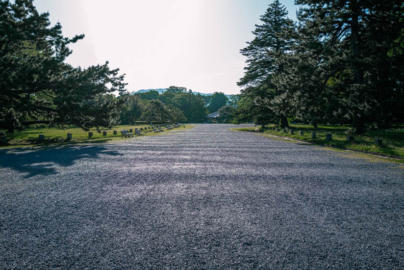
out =
<path fill-rule="evenodd" d="M 296 0 L 297 22 L 275 0 L 256 25 L 236 123 L 379 127 L 404 121 L 402 0 Z"/>

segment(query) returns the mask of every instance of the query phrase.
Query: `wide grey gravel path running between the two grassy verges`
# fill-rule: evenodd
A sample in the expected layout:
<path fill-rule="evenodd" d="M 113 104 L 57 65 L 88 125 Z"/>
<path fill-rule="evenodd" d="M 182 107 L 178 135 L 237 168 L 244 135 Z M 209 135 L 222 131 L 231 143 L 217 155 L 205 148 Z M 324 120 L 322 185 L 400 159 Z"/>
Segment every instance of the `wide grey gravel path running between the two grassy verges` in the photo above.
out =
<path fill-rule="evenodd" d="M 404 269 L 402 166 L 231 127 L 0 150 L 0 269 Z"/>

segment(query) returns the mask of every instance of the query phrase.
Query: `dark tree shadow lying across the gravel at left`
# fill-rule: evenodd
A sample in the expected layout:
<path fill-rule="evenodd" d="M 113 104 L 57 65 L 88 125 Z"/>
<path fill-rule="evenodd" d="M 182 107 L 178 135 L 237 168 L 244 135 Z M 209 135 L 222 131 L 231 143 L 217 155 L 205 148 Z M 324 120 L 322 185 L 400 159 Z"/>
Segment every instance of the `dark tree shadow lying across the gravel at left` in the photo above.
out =
<path fill-rule="evenodd" d="M 39 149 L 12 148 L 0 151 L 0 166 L 35 175 L 56 174 L 56 167 L 68 167 L 81 159 L 98 159 L 101 155 L 118 156 L 104 145 L 49 146 Z"/>

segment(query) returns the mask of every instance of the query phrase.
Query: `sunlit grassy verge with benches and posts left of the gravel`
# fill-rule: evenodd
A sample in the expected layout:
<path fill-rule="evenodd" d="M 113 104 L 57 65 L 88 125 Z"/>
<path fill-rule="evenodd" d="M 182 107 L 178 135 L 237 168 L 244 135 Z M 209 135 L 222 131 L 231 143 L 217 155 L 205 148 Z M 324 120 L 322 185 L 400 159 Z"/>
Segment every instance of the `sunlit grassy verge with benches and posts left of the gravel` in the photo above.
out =
<path fill-rule="evenodd" d="M 42 145 L 49 145 L 49 144 L 60 144 L 60 143 L 102 143 L 108 141 L 115 141 L 115 140 L 125 140 L 125 139 L 132 139 L 132 138 L 125 138 L 121 135 L 121 130 L 129 130 L 132 129 L 133 133 L 135 129 L 149 127 L 149 125 L 120 125 L 114 126 L 112 129 L 103 129 L 101 133 L 98 133 L 96 129 L 90 130 L 93 132 L 93 136 L 89 137 L 88 131 L 83 131 L 80 128 L 67 128 L 65 130 L 57 129 L 57 128 L 26 128 L 23 131 L 15 131 L 14 133 L 7 133 L 7 144 L 0 145 L 0 148 L 5 147 L 24 147 L 24 146 L 42 146 Z M 193 128 L 192 125 L 185 125 L 186 128 L 180 126 L 178 128 L 173 128 L 172 130 L 165 130 L 163 132 L 154 133 L 152 129 L 148 129 L 145 136 L 152 136 L 152 135 L 161 135 L 167 132 L 172 131 L 183 131 L 190 128 Z M 117 135 L 113 134 L 113 131 L 117 131 Z M 106 131 L 107 135 L 102 135 L 102 132 Z M 151 132 L 149 132 L 151 131 Z M 145 131 L 141 131 L 145 132 Z M 67 134 L 72 134 L 72 139 L 67 139 Z M 45 135 L 45 141 L 39 141 L 39 135 Z M 134 135 L 134 137 L 141 137 L 139 135 Z"/>

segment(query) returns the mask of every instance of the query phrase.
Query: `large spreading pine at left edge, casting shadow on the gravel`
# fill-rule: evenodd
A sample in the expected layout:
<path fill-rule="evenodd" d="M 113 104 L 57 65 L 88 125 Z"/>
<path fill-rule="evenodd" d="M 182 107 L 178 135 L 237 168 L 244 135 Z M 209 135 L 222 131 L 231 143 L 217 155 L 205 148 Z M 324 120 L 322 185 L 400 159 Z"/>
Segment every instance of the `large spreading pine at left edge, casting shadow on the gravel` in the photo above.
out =
<path fill-rule="evenodd" d="M 66 64 L 68 45 L 84 35 L 66 38 L 59 23 L 49 25 L 49 14 L 39 14 L 32 0 L 0 0 L 0 126 L 111 126 L 125 98 L 100 97 L 123 94 L 124 75 L 108 62 L 86 69 Z"/>

